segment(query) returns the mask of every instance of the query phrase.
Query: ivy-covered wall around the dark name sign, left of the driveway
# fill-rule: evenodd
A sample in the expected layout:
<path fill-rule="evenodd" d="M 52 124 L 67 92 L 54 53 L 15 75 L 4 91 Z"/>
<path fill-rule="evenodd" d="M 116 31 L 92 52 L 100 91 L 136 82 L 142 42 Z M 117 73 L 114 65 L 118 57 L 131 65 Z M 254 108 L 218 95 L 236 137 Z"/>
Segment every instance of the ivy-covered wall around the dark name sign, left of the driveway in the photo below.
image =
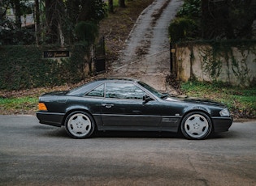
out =
<path fill-rule="evenodd" d="M 43 59 L 43 51 L 58 50 L 56 46 L 6 46 L 0 49 L 0 89 L 20 90 L 32 87 L 78 82 L 88 76 L 89 49 L 84 44 L 68 48 L 71 57 Z"/>

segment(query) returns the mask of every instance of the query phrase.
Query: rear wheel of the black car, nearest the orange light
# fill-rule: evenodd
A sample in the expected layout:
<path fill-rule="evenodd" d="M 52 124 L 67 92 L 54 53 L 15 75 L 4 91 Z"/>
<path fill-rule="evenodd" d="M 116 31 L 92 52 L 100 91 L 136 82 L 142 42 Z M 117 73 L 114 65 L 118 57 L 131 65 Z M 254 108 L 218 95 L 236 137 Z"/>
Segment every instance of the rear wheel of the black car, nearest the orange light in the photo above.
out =
<path fill-rule="evenodd" d="M 65 129 L 68 135 L 76 139 L 90 137 L 94 128 L 93 117 L 86 112 L 72 112 L 65 120 Z"/>

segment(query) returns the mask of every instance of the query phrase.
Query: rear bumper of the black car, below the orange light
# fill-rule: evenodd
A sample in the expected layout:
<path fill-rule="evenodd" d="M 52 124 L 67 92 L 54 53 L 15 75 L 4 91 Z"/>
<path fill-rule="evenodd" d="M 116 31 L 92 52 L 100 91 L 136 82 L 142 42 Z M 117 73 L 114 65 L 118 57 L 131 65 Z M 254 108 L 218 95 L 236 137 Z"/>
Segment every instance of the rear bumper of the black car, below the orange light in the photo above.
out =
<path fill-rule="evenodd" d="M 63 118 L 63 113 L 37 112 L 37 119 L 41 124 L 61 127 Z"/>

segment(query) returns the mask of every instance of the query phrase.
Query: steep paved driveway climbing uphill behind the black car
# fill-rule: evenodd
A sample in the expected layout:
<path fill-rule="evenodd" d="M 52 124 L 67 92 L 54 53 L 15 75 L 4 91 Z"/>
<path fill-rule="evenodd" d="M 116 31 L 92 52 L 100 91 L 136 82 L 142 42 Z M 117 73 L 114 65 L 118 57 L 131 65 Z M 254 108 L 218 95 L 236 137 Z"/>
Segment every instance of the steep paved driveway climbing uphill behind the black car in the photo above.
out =
<path fill-rule="evenodd" d="M 110 76 L 138 78 L 157 90 L 176 94 L 167 85 L 170 74 L 168 26 L 183 0 L 158 0 L 145 8 L 138 17 L 119 61 L 111 62 Z"/>

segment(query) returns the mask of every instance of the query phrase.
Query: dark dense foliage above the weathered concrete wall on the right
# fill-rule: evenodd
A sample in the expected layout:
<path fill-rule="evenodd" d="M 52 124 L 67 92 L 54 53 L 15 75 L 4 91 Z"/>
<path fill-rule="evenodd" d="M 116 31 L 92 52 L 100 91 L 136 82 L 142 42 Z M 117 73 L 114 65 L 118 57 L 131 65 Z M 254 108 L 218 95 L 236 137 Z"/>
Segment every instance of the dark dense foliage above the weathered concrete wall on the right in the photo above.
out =
<path fill-rule="evenodd" d="M 255 35 L 255 9 L 254 1 L 185 0 L 176 16 L 197 23 L 193 40 L 247 40 Z"/>

